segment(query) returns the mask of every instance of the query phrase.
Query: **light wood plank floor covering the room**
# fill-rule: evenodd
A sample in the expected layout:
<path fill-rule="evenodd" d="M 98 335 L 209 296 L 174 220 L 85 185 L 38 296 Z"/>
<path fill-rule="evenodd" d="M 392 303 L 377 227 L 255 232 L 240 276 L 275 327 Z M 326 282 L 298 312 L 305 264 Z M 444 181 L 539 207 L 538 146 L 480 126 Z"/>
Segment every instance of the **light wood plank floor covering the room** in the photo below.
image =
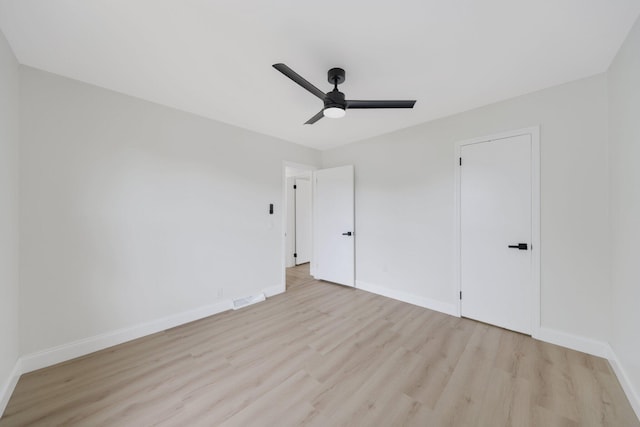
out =
<path fill-rule="evenodd" d="M 313 280 L 23 375 L 0 426 L 638 426 L 608 362 Z"/>

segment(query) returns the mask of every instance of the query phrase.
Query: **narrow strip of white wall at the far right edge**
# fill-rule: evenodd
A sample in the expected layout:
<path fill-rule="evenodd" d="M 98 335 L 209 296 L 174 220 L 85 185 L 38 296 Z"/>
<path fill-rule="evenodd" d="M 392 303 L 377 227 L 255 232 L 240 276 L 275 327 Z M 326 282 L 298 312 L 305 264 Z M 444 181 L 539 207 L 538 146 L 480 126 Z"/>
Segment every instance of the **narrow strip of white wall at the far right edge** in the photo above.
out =
<path fill-rule="evenodd" d="M 611 346 L 640 416 L 640 21 L 609 72 Z"/>

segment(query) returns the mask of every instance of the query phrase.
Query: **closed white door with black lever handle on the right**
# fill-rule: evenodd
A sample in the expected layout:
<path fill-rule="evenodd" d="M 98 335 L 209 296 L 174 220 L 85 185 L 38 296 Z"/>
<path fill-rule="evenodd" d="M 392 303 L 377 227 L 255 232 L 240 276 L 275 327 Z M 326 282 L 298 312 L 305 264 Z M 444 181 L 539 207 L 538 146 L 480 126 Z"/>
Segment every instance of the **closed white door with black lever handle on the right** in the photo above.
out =
<path fill-rule="evenodd" d="M 461 314 L 531 334 L 531 135 L 463 145 L 461 158 Z"/>

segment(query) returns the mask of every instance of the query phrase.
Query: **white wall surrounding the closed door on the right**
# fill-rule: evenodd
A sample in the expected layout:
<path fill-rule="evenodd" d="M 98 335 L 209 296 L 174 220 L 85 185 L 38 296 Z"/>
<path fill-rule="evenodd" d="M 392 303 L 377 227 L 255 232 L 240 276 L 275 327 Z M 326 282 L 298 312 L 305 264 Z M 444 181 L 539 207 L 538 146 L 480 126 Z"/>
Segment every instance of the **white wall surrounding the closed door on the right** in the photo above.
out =
<path fill-rule="evenodd" d="M 606 341 L 606 83 L 598 75 L 323 152 L 323 167 L 355 165 L 356 279 L 453 306 L 454 143 L 540 125 L 541 323 Z"/>

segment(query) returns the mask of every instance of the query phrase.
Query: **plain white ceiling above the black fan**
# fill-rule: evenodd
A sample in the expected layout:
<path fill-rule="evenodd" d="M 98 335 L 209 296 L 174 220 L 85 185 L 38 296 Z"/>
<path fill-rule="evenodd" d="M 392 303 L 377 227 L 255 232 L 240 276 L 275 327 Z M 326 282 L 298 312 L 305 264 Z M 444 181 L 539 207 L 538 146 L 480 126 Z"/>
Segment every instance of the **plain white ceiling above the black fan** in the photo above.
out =
<path fill-rule="evenodd" d="M 603 72 L 638 0 L 0 0 L 26 65 L 325 149 Z M 303 123 L 351 99 L 417 99 Z"/>

